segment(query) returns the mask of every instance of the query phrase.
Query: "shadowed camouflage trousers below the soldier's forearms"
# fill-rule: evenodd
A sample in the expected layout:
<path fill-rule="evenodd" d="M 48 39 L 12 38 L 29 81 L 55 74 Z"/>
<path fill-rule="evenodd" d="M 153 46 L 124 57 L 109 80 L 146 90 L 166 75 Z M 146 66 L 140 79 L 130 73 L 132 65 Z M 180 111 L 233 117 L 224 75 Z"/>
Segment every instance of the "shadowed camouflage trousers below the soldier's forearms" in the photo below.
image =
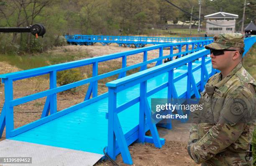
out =
<path fill-rule="evenodd" d="M 253 166 L 253 157 L 249 157 L 248 152 L 224 151 L 202 163 L 201 166 Z"/>

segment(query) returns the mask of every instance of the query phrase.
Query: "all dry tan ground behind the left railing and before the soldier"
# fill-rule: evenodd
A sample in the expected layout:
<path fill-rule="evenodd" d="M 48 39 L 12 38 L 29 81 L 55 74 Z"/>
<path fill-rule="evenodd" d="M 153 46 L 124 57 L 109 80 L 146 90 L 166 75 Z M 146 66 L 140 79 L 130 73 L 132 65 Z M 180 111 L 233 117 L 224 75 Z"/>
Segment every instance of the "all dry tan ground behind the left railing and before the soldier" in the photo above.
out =
<path fill-rule="evenodd" d="M 59 53 L 61 51 L 86 51 L 90 57 L 101 56 L 106 54 L 113 54 L 121 51 L 128 51 L 133 48 L 124 48 L 118 46 L 63 46 L 57 47 L 49 51 L 49 54 Z M 177 50 L 174 50 L 176 53 Z M 169 50 L 164 50 L 164 55 L 169 54 Z M 159 51 L 148 51 L 148 59 L 153 59 L 159 56 Z M 127 65 L 132 65 L 142 61 L 142 54 L 138 56 L 128 56 Z M 78 60 L 78 59 L 77 59 Z M 118 61 L 121 61 L 119 59 Z M 148 67 L 154 64 L 148 65 Z M 108 67 L 108 66 L 106 66 Z M 0 74 L 19 71 L 15 66 L 11 66 L 6 62 L 0 62 Z M 36 92 L 41 92 L 49 88 L 49 81 L 47 77 L 34 77 L 31 79 L 19 80 L 13 83 L 13 96 L 15 98 L 27 96 Z M 84 100 L 84 92 L 87 86 L 80 87 L 78 92 L 58 94 L 57 105 L 58 110 L 75 105 Z M 103 92 L 106 87 L 99 85 L 99 91 Z M 14 125 L 15 128 L 31 123 L 40 119 L 41 112 L 44 107 L 46 98 L 41 98 L 32 102 L 28 102 L 14 107 Z M 0 111 L 4 103 L 4 86 L 0 86 Z M 145 145 L 133 143 L 129 146 L 131 156 L 133 158 L 134 166 L 193 166 L 193 161 L 187 154 L 187 138 L 188 138 L 188 124 L 173 124 L 172 130 L 159 128 L 159 135 L 166 139 L 165 145 L 159 149 L 155 148 L 153 144 L 146 143 Z M 5 139 L 5 132 L 3 138 Z M 117 157 L 117 163 L 122 166 L 122 158 Z M 110 166 L 110 161 L 98 162 L 96 165 Z"/>

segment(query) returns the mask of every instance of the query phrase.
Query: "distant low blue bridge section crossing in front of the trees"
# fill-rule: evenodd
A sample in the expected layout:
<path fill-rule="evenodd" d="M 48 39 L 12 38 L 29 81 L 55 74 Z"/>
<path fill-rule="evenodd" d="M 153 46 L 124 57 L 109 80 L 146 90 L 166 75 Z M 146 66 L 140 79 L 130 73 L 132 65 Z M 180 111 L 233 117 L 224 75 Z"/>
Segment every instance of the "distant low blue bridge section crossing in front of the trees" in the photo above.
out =
<path fill-rule="evenodd" d="M 198 40 L 209 40 L 212 37 L 191 37 L 191 38 L 166 38 L 166 37 L 141 37 L 141 36 L 95 36 L 95 35 L 66 35 L 69 44 L 93 45 L 101 43 L 103 46 L 117 43 L 119 46 L 141 48 L 147 44 L 163 44 L 192 42 Z"/>

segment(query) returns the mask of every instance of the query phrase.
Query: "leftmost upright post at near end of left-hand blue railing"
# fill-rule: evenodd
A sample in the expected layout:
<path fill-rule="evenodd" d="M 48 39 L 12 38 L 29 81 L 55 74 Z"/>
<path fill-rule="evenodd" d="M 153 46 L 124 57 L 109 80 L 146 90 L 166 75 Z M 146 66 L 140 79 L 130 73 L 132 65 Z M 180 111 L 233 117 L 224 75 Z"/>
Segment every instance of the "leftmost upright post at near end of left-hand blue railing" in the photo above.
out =
<path fill-rule="evenodd" d="M 10 101 L 13 100 L 13 80 L 5 79 L 5 124 L 6 124 L 6 138 L 11 137 L 11 131 L 14 128 L 13 123 L 13 106 Z"/>

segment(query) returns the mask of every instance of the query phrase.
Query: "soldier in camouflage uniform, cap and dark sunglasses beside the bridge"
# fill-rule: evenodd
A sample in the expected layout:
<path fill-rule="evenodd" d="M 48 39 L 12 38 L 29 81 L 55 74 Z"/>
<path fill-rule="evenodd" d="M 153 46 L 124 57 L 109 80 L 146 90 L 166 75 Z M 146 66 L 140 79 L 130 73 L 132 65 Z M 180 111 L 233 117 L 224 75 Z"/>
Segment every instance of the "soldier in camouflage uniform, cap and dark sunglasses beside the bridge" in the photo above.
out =
<path fill-rule="evenodd" d="M 243 68 L 241 33 L 220 33 L 210 49 L 212 67 L 220 70 L 201 92 L 203 110 L 189 133 L 188 153 L 202 166 L 252 166 L 256 82 Z"/>

